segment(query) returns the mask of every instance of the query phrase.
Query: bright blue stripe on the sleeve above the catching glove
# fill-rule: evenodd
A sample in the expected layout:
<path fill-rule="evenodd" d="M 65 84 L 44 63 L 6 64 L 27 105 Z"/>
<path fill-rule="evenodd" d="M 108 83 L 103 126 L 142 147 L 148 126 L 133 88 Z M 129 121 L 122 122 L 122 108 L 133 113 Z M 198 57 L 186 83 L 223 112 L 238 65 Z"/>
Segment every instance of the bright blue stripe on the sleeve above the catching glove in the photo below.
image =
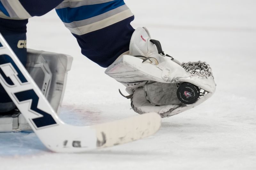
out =
<path fill-rule="evenodd" d="M 76 8 L 67 7 L 56 9 L 56 12 L 63 22 L 71 23 L 73 21 L 80 21 L 98 16 L 124 4 L 125 3 L 123 0 L 115 0 L 103 4 L 84 5 Z"/>

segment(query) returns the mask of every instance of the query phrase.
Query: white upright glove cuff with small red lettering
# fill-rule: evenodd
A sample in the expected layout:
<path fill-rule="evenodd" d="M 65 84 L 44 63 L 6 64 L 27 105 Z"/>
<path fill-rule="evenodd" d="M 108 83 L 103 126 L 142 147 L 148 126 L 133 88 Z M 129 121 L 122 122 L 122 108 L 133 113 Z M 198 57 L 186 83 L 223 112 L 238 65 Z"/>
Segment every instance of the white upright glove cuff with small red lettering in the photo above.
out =
<path fill-rule="evenodd" d="M 142 55 L 148 57 L 149 54 L 158 53 L 154 43 L 150 42 L 151 37 L 146 28 L 139 27 L 132 34 L 130 42 L 130 55 Z"/>

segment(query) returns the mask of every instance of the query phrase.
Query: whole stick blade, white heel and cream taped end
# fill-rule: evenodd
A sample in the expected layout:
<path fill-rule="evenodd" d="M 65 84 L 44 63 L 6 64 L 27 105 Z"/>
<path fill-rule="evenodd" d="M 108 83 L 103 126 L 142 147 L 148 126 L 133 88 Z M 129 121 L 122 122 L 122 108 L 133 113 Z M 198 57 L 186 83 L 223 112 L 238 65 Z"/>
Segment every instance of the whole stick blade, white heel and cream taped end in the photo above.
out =
<path fill-rule="evenodd" d="M 143 139 L 155 134 L 160 126 L 160 115 L 146 113 L 91 126 L 59 124 L 36 134 L 53 152 L 78 153 Z"/>

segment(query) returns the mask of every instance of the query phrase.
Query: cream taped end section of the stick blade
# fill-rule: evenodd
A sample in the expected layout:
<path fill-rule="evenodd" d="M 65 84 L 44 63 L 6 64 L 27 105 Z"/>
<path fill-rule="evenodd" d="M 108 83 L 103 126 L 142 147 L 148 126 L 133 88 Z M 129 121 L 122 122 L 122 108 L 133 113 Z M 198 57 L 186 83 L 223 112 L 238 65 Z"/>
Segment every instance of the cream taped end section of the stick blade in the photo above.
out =
<path fill-rule="evenodd" d="M 96 130 L 97 147 L 110 147 L 139 140 L 155 134 L 161 126 L 157 113 L 146 113 L 123 120 L 91 126 Z"/>

